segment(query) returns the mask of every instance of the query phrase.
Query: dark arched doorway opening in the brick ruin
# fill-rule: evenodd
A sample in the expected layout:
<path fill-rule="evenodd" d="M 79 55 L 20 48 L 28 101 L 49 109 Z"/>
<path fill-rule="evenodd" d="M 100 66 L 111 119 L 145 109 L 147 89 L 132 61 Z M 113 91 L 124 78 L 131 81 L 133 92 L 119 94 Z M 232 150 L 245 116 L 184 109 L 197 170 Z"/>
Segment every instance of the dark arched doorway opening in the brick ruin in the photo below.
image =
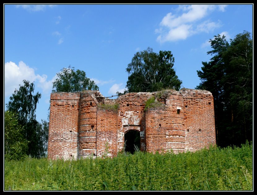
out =
<path fill-rule="evenodd" d="M 125 151 L 134 154 L 135 146 L 140 149 L 140 132 L 136 130 L 126 132 L 124 135 L 124 141 L 126 143 Z"/>

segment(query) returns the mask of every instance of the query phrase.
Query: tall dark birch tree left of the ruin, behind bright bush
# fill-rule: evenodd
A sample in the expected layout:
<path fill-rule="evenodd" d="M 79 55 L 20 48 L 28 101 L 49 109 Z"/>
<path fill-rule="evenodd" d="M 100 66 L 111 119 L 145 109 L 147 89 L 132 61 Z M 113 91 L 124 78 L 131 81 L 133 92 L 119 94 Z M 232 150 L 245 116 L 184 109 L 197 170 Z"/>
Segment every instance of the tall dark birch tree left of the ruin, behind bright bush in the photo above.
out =
<path fill-rule="evenodd" d="M 24 126 L 23 135 L 28 141 L 28 155 L 40 158 L 41 154 L 38 152 L 42 145 L 39 140 L 41 139 L 39 132 L 37 132 L 38 122 L 36 120 L 36 108 L 40 93 L 34 92 L 34 83 L 23 80 L 24 85 L 20 85 L 20 89 L 15 89 L 7 103 L 7 110 L 17 114 L 18 122 Z"/>

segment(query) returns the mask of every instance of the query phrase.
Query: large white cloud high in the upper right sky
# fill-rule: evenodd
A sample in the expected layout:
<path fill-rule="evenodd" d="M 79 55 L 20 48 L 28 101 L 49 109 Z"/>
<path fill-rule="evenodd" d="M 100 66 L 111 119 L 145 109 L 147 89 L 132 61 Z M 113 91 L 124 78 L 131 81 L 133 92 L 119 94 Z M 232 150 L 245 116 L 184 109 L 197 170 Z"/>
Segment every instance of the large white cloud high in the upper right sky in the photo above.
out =
<path fill-rule="evenodd" d="M 197 21 L 206 17 L 210 12 L 217 8 L 216 5 L 182 5 L 177 11 L 183 11 L 181 15 L 168 13 L 160 22 L 160 28 L 155 29 L 155 33 L 160 35 L 157 41 L 185 40 L 187 37 L 201 32 L 210 32 L 221 26 L 220 21 L 212 22 L 206 20 L 200 24 Z M 224 8 L 224 7 L 223 7 Z M 219 9 L 221 9 L 219 7 Z M 222 11 L 222 10 L 221 10 Z"/>

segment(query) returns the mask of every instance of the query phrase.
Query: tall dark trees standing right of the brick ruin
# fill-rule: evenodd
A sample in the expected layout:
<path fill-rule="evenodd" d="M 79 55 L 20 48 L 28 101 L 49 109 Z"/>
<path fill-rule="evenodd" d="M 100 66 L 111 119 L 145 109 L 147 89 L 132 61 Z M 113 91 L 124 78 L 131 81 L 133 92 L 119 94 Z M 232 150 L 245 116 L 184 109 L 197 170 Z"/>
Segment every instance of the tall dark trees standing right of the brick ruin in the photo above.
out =
<path fill-rule="evenodd" d="M 252 140 L 253 42 L 244 31 L 230 40 L 217 35 L 211 40 L 214 55 L 202 62 L 197 89 L 211 91 L 214 97 L 217 144 L 240 145 Z"/>

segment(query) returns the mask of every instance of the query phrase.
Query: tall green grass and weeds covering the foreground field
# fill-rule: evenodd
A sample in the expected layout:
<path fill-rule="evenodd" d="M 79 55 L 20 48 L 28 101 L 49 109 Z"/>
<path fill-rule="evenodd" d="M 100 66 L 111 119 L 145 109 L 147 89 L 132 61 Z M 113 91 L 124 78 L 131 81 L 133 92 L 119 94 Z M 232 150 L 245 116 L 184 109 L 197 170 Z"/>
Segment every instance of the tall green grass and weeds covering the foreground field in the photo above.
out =
<path fill-rule="evenodd" d="M 5 161 L 4 190 L 253 190 L 252 145 L 77 161 Z"/>

